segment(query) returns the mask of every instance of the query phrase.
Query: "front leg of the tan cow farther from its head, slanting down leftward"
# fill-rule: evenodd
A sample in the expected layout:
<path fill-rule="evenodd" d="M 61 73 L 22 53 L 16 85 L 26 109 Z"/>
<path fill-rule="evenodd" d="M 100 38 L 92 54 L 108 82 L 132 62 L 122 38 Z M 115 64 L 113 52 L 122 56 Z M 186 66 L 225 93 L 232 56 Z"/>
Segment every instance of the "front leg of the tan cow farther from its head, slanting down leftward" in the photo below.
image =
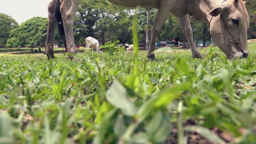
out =
<path fill-rule="evenodd" d="M 155 41 L 156 37 L 158 37 L 160 28 L 164 24 L 164 21 L 167 15 L 171 12 L 172 7 L 176 3 L 177 0 L 170 0 L 170 1 L 160 1 L 158 14 L 156 14 L 154 25 L 152 28 L 152 36 L 150 40 L 150 45 L 148 49 L 148 58 L 155 59 L 155 54 L 152 53 L 155 50 Z"/>

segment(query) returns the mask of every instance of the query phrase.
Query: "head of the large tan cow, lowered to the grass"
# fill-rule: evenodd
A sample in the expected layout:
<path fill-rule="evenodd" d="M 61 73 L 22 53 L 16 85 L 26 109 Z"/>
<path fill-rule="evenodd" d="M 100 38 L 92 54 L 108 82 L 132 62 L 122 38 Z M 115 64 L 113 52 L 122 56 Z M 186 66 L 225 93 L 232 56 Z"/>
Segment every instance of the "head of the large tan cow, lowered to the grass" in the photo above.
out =
<path fill-rule="evenodd" d="M 209 12 L 213 16 L 210 22 L 212 37 L 228 58 L 248 56 L 249 15 L 246 3 L 242 0 L 226 0 Z"/>

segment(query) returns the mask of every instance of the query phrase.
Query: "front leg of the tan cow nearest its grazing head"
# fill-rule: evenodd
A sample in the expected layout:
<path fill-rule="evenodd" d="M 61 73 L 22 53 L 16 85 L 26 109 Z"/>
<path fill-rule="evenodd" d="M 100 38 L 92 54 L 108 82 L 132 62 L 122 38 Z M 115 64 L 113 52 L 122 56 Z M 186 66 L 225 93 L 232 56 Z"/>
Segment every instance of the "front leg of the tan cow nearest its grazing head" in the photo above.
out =
<path fill-rule="evenodd" d="M 183 34 L 188 39 L 190 50 L 192 52 L 193 58 L 202 58 L 199 51 L 196 49 L 194 40 L 193 40 L 193 31 L 190 25 L 188 14 L 179 17 L 179 23 L 182 27 Z"/>

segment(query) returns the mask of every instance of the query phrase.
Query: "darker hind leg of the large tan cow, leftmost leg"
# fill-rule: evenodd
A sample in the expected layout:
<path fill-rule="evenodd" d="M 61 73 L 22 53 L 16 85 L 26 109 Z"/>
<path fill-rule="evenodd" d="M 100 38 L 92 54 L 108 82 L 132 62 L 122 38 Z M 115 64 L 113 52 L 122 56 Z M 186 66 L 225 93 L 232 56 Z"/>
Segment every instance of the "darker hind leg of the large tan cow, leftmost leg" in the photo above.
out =
<path fill-rule="evenodd" d="M 51 1 L 48 5 L 48 29 L 47 37 L 45 41 L 45 52 L 48 59 L 55 58 L 54 56 L 54 32 L 57 25 L 57 19 L 55 17 L 56 1 Z"/>

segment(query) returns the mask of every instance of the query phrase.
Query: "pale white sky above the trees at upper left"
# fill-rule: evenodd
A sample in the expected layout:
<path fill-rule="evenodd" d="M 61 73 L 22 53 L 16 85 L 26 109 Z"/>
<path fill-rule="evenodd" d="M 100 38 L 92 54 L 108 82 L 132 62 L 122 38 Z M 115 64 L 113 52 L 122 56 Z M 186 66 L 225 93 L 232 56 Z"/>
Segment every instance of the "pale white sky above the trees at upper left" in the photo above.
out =
<path fill-rule="evenodd" d="M 13 17 L 19 25 L 35 16 L 48 17 L 51 0 L 0 0 L 0 13 Z"/>

